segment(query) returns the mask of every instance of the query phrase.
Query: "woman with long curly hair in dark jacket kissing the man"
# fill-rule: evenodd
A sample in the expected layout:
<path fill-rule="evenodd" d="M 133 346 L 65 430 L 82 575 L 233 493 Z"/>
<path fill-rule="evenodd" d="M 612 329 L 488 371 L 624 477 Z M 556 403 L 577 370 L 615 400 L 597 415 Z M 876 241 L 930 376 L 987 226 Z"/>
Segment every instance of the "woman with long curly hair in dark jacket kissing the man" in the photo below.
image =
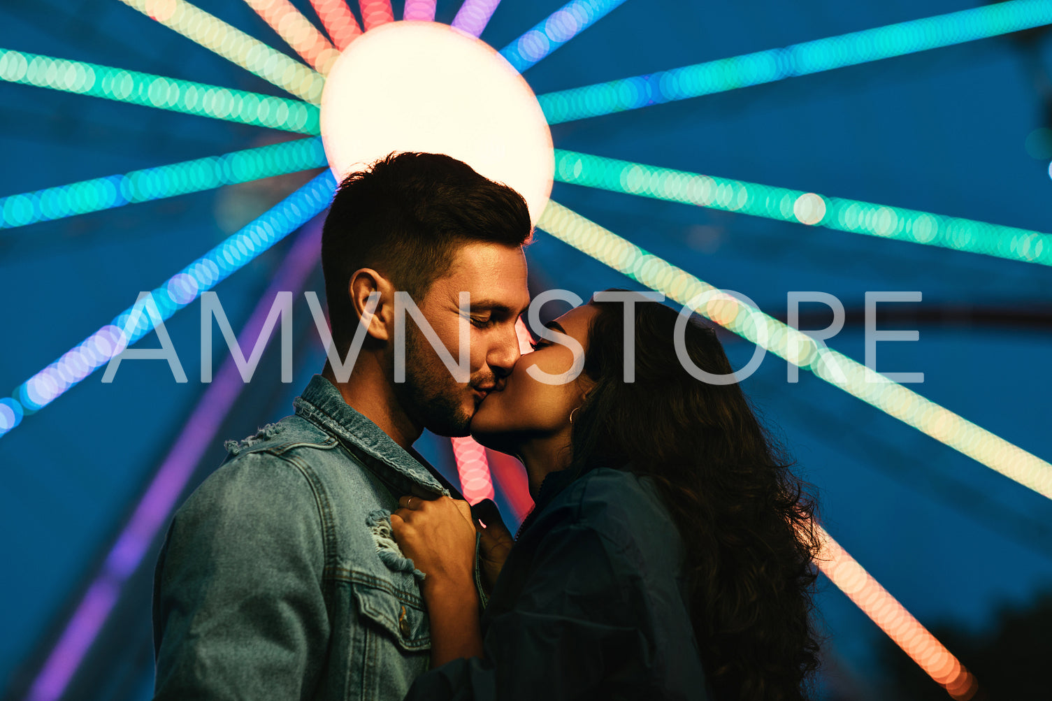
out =
<path fill-rule="evenodd" d="M 592 300 L 549 324 L 584 348 L 574 381 L 543 381 L 573 353 L 541 341 L 479 406 L 472 435 L 522 460 L 535 502 L 481 629 L 466 504 L 400 501 L 391 525 L 427 575 L 432 642 L 408 699 L 807 698 L 814 502 L 737 384 L 683 367 L 676 318 L 634 305 L 626 382 L 624 305 Z M 688 323 L 685 344 L 731 373 L 711 328 Z"/>

